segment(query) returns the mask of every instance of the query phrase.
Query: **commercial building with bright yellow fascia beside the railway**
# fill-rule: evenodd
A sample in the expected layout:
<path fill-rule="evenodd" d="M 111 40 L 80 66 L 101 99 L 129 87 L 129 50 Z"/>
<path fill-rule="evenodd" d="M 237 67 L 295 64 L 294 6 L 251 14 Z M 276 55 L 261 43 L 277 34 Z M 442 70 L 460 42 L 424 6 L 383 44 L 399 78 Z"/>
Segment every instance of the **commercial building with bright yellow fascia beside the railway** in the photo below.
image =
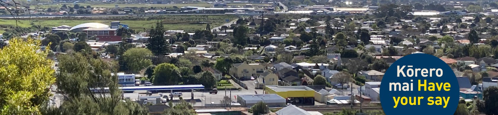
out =
<path fill-rule="evenodd" d="M 315 90 L 306 86 L 265 86 L 264 93 L 276 94 L 293 105 L 315 105 Z"/>

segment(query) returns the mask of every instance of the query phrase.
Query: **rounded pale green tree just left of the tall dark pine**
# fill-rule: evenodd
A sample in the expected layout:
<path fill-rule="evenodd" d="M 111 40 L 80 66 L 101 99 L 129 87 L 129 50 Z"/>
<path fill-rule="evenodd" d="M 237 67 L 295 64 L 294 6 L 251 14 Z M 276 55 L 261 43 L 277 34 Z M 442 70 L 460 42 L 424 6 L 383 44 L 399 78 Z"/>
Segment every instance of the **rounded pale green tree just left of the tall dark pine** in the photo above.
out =
<path fill-rule="evenodd" d="M 131 48 L 126 50 L 123 54 L 124 61 L 126 61 L 126 66 L 128 69 L 136 73 L 143 68 L 152 65 L 151 58 L 152 52 L 145 48 Z"/>

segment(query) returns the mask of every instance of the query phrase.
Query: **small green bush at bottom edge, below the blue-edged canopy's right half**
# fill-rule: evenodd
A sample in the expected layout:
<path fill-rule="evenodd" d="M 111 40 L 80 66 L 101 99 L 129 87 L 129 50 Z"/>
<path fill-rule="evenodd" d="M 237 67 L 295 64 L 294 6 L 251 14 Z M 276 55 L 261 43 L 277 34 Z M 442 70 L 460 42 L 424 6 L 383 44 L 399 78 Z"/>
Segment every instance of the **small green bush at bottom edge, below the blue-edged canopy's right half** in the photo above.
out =
<path fill-rule="evenodd" d="M 164 115 L 197 115 L 194 110 L 194 107 L 190 105 L 190 103 L 181 100 L 179 104 L 173 106 L 173 104 L 169 103 L 170 109 L 164 110 Z"/>

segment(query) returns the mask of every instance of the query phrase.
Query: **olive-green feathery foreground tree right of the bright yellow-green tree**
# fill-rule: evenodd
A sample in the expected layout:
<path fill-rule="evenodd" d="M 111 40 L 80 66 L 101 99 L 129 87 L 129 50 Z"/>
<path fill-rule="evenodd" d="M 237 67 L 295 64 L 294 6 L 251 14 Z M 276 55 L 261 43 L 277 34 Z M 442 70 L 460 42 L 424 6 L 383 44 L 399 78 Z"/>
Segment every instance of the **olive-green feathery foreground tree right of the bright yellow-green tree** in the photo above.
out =
<path fill-rule="evenodd" d="M 59 108 L 44 107 L 45 115 L 147 115 L 148 110 L 122 100 L 117 83 L 116 63 L 86 54 L 59 56 L 57 86 L 64 92 Z"/>

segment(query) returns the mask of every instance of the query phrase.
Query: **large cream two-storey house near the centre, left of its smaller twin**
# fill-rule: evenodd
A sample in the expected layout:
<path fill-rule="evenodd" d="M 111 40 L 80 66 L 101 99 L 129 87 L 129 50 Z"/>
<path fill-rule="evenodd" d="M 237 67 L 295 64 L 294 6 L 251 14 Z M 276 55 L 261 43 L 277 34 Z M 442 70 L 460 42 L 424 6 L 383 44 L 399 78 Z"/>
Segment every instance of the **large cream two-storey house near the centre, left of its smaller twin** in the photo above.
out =
<path fill-rule="evenodd" d="M 230 68 L 230 74 L 236 78 L 249 79 L 250 77 L 259 76 L 262 74 L 264 67 L 260 64 L 233 64 Z"/>

